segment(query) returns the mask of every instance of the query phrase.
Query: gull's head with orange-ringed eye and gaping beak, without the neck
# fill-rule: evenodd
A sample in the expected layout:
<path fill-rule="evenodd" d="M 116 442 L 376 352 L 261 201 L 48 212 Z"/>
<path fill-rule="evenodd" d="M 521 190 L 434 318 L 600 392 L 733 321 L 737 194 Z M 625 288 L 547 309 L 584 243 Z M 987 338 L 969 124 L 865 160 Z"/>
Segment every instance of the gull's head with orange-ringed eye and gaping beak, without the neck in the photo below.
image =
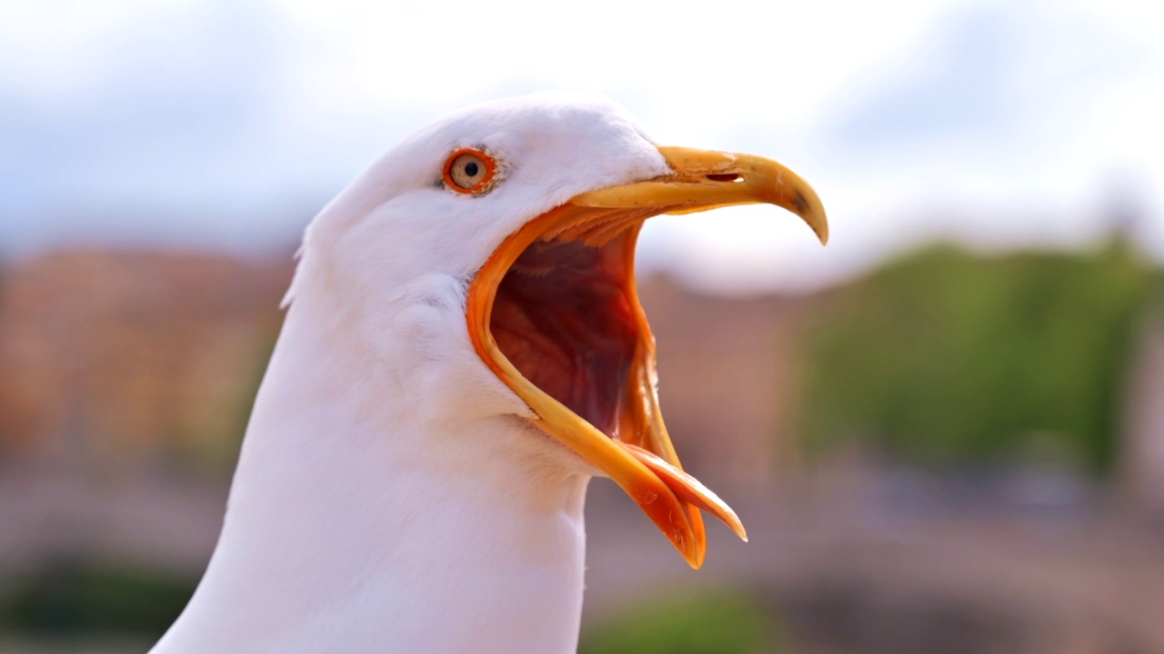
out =
<path fill-rule="evenodd" d="M 414 133 L 333 200 L 289 297 L 310 268 L 345 298 L 332 319 L 395 353 L 405 384 L 519 420 L 555 465 L 618 483 L 698 568 L 702 511 L 744 528 L 667 434 L 634 249 L 652 216 L 757 202 L 828 239 L 816 193 L 774 161 L 660 147 L 603 97 L 490 102 Z"/>

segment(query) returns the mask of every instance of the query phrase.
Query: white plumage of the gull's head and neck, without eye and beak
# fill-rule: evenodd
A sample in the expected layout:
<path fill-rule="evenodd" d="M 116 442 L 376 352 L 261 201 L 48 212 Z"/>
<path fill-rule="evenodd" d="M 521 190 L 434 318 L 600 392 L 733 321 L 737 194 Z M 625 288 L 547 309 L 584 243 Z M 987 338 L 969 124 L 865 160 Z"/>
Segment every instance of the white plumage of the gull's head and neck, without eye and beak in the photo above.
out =
<path fill-rule="evenodd" d="M 443 189 L 460 147 L 502 183 Z M 591 470 L 481 361 L 467 284 L 532 218 L 666 170 L 617 105 L 541 93 L 438 120 L 325 207 L 218 547 L 154 653 L 573 652 Z"/>

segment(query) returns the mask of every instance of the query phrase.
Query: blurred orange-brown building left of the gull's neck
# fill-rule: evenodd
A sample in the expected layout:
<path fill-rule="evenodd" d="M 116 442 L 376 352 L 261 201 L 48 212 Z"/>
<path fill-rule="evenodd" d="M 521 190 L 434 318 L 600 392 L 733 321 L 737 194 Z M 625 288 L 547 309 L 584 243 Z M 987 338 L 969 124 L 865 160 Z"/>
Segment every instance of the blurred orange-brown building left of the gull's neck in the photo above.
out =
<path fill-rule="evenodd" d="M 290 270 L 97 250 L 5 269 L 3 458 L 115 474 L 234 448 Z"/>

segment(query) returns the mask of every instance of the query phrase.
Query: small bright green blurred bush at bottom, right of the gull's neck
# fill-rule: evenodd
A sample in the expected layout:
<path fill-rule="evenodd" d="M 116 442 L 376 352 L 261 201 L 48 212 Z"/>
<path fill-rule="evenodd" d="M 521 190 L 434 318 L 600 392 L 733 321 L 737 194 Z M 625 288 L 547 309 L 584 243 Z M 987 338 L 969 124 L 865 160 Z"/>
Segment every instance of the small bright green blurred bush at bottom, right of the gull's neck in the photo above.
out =
<path fill-rule="evenodd" d="M 775 653 L 781 648 L 772 623 L 740 591 L 658 598 L 584 630 L 579 654 Z"/>

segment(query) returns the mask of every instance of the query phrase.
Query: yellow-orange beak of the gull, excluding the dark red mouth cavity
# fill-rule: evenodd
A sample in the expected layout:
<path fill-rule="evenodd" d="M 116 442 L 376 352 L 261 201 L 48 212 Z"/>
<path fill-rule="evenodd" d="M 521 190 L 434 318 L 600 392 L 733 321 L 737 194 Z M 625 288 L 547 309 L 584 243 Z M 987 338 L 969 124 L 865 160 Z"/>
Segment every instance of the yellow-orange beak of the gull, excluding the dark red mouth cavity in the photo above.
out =
<path fill-rule="evenodd" d="M 655 346 L 638 303 L 634 246 L 643 221 L 661 213 L 694 213 L 744 204 L 773 204 L 801 216 L 822 243 L 829 226 L 816 192 L 783 165 L 753 155 L 659 148 L 672 173 L 574 197 L 510 235 L 477 272 L 469 289 L 469 334 L 482 360 L 534 413 L 538 426 L 609 475 L 651 517 L 693 568 L 703 563 L 707 536 L 700 511 L 710 511 L 746 540 L 736 513 L 682 471 L 667 435 L 655 392 Z M 490 332 L 497 289 L 537 241 L 576 240 L 623 248 L 623 280 L 638 327 L 627 375 L 618 440 L 580 418 L 531 383 L 498 348 Z"/>

